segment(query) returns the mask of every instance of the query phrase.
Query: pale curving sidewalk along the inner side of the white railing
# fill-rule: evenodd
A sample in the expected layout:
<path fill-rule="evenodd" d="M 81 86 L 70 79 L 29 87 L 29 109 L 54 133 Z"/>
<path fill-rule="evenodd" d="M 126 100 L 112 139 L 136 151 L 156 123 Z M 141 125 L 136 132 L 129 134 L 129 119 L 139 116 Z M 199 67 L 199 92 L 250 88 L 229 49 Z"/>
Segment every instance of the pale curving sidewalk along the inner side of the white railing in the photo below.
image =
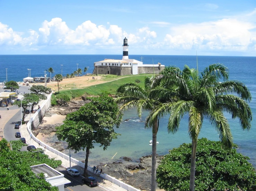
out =
<path fill-rule="evenodd" d="M 33 114 L 34 115 L 34 114 Z M 33 116 L 32 113 L 31 113 L 31 117 Z M 26 129 L 26 126 L 27 125 L 22 125 L 22 128 L 20 128 L 20 133 L 21 133 L 21 136 L 24 137 L 26 139 L 26 143 L 27 144 L 30 144 L 30 136 L 29 136 L 29 132 L 27 131 Z M 31 145 L 34 145 L 36 148 L 42 148 L 44 149 L 42 146 L 40 146 L 36 141 L 34 141 L 33 139 L 31 139 Z M 59 155 L 49 151 L 49 150 L 45 150 L 44 151 L 45 154 L 47 154 L 49 156 L 49 158 L 54 158 L 55 160 L 61 160 L 62 161 L 62 166 L 65 167 L 65 168 L 69 168 L 69 160 L 66 160 L 62 157 L 60 157 Z M 74 168 L 74 169 L 77 169 L 79 170 L 80 174 L 83 174 L 83 168 L 79 167 L 78 165 L 74 164 L 71 162 L 71 168 Z M 91 176 L 95 177 L 97 180 L 98 180 L 98 184 L 99 184 L 99 187 L 101 187 L 102 189 L 106 190 L 106 191 L 127 191 L 126 189 L 124 188 L 121 188 L 120 186 L 108 181 L 108 180 L 105 180 L 101 177 L 98 177 L 96 174 L 88 171 L 88 174 L 90 174 Z"/>

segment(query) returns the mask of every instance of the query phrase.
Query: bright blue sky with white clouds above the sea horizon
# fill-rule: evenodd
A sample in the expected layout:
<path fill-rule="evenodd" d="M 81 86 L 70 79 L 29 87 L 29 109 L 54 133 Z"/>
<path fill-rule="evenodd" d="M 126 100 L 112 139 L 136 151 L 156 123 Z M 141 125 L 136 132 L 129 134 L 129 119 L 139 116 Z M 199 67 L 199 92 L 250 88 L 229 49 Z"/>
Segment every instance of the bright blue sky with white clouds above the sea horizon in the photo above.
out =
<path fill-rule="evenodd" d="M 255 56 L 256 1 L 0 0 L 0 54 Z"/>

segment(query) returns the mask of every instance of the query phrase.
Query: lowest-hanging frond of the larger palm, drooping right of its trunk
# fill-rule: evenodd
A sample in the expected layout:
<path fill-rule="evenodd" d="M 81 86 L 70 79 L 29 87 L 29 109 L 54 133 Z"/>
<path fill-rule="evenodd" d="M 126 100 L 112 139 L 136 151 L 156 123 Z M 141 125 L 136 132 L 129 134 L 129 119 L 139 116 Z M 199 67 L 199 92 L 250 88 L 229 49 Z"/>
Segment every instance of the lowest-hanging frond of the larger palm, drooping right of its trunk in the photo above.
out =
<path fill-rule="evenodd" d="M 217 130 L 220 141 L 222 142 L 224 148 L 231 149 L 233 145 L 233 137 L 227 118 L 225 118 L 223 113 L 218 110 L 215 110 L 212 113 L 207 113 L 206 116 Z"/>

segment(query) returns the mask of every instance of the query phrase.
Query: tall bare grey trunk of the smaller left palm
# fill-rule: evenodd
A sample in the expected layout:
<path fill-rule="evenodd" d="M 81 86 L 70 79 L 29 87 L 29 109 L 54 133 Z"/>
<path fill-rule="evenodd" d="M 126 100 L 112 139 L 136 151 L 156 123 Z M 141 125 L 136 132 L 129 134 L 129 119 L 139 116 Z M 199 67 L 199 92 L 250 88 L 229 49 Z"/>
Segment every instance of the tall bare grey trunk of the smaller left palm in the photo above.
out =
<path fill-rule="evenodd" d="M 152 128 L 152 170 L 151 170 L 151 191 L 156 191 L 156 171 L 157 171 L 157 130 L 158 120 L 154 121 Z"/>

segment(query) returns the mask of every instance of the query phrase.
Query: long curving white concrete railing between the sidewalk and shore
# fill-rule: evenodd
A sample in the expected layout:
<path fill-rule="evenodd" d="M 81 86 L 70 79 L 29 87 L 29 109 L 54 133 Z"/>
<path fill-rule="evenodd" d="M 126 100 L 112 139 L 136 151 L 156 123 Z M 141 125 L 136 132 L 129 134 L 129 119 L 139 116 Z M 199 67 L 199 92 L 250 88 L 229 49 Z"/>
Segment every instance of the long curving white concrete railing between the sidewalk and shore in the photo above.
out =
<path fill-rule="evenodd" d="M 29 115 L 26 117 L 26 119 L 28 118 L 27 130 L 28 130 L 29 133 L 30 133 L 30 122 L 31 122 L 31 124 L 33 124 L 33 121 L 36 121 L 36 123 L 38 123 L 37 122 L 38 115 L 43 115 L 44 116 L 45 112 L 50 108 L 50 106 L 51 106 L 51 96 L 52 96 L 52 94 L 48 95 L 46 100 L 41 101 L 40 109 L 37 110 L 36 113 L 33 114 L 33 117 L 30 120 L 29 120 Z M 35 128 L 37 128 L 37 127 L 35 127 Z M 36 141 L 37 143 L 39 143 L 39 139 L 37 139 L 34 136 L 33 133 L 31 133 L 31 134 L 32 134 L 32 139 L 34 141 Z M 50 147 L 49 145 L 45 144 L 42 141 L 40 141 L 40 145 L 43 146 L 43 147 L 45 146 L 47 150 L 49 150 L 49 151 L 51 151 L 51 152 L 53 152 L 53 153 L 59 155 L 60 157 L 62 157 L 62 158 L 64 158 L 64 159 L 69 161 L 69 155 L 64 154 L 64 153 L 62 153 L 62 152 L 60 152 L 60 151 Z M 85 168 L 85 163 L 82 163 L 82 162 L 80 162 L 77 159 L 74 159 L 72 157 L 70 158 L 70 160 L 71 160 L 72 163 L 78 165 L 79 167 Z M 92 167 L 87 167 L 87 170 L 89 170 L 90 172 L 93 172 L 93 168 Z M 122 182 L 120 180 L 117 180 L 114 177 L 111 177 L 111 176 L 109 176 L 109 175 L 107 175 L 105 173 L 101 173 L 101 174 L 99 174 L 99 176 L 101 178 L 103 178 L 103 179 L 106 179 L 106 180 L 108 180 L 108 181 L 110 181 L 110 182 L 120 186 L 121 188 L 123 188 L 125 190 L 128 190 L 128 191 L 141 191 L 141 190 L 136 189 L 136 188 L 132 187 L 131 185 L 128 185 L 128 184 L 126 184 L 126 183 L 124 183 L 124 182 Z"/>

